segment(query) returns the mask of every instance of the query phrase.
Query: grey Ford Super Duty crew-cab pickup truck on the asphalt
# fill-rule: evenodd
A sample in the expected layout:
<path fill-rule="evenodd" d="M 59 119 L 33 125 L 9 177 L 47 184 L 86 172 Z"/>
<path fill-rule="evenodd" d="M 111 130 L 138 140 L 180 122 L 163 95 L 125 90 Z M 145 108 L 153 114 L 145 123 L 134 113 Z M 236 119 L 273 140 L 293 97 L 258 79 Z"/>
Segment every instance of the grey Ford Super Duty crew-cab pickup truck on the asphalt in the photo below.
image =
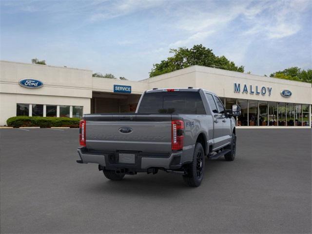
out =
<path fill-rule="evenodd" d="M 90 114 L 80 121 L 78 163 L 96 163 L 104 176 L 121 180 L 138 172 L 178 173 L 193 187 L 204 176 L 205 157 L 235 157 L 234 116 L 204 89 L 153 89 L 136 113 Z"/>

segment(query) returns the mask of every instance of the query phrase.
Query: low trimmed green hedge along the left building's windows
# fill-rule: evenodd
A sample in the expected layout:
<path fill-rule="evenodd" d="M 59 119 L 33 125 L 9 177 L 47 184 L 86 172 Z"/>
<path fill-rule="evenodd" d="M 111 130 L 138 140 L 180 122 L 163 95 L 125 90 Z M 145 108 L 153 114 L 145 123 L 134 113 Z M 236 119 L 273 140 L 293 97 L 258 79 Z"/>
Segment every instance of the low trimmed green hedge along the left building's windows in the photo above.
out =
<path fill-rule="evenodd" d="M 10 117 L 6 120 L 9 127 L 79 127 L 79 118 L 68 118 L 68 117 L 28 117 L 28 116 L 17 116 Z"/>

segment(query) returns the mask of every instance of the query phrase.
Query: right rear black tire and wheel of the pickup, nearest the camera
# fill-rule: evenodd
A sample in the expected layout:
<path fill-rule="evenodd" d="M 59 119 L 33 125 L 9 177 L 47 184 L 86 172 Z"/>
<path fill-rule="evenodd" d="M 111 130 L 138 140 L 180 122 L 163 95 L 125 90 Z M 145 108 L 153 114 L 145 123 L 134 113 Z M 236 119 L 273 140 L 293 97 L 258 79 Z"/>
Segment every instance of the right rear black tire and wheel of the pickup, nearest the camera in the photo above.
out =
<path fill-rule="evenodd" d="M 183 176 L 184 182 L 191 187 L 198 187 L 204 178 L 205 153 L 200 143 L 195 144 L 193 162 L 187 167 L 187 175 Z"/>

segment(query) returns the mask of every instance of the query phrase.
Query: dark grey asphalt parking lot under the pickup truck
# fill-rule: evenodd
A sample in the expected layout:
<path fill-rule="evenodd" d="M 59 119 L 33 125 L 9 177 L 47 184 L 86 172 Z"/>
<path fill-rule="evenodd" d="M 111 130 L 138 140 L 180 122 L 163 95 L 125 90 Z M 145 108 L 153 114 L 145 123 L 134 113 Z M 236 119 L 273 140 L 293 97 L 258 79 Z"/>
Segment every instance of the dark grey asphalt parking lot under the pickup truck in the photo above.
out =
<path fill-rule="evenodd" d="M 78 129 L 0 130 L 1 233 L 311 233 L 311 129 L 238 129 L 233 162 L 109 181 Z"/>

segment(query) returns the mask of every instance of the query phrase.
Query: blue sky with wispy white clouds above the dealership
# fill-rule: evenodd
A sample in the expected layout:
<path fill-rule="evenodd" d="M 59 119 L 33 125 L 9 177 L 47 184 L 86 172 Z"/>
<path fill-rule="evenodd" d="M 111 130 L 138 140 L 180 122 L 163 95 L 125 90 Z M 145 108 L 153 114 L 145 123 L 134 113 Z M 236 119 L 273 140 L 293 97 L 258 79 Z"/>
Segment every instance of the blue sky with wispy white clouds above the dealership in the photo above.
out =
<path fill-rule="evenodd" d="M 194 44 L 245 72 L 312 68 L 312 0 L 0 0 L 0 59 L 149 77 Z"/>

